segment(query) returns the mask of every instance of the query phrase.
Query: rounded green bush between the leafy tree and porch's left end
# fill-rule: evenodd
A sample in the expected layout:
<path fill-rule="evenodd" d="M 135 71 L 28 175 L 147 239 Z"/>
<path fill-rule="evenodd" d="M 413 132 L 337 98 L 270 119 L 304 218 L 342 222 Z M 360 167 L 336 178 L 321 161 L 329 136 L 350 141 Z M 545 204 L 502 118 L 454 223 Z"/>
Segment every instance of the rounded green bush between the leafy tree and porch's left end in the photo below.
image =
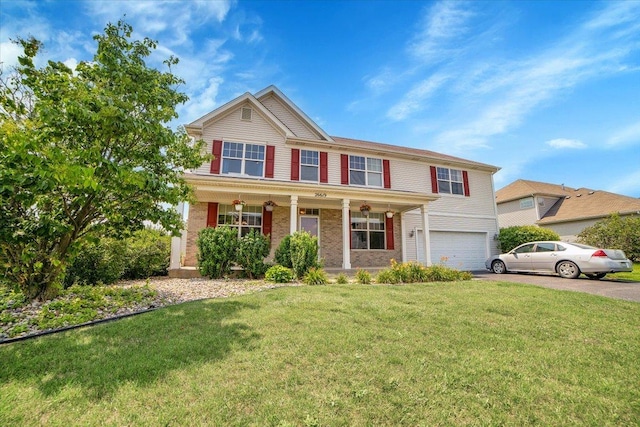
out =
<path fill-rule="evenodd" d="M 145 228 L 125 240 L 124 279 L 166 276 L 171 255 L 171 236 L 164 231 Z"/>

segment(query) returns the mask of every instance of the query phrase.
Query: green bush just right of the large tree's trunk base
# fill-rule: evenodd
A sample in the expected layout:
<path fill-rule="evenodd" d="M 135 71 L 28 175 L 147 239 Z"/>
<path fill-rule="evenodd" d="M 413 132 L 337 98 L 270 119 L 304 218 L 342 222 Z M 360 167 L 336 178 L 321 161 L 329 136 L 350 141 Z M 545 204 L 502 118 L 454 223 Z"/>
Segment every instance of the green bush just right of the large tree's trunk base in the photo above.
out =
<path fill-rule="evenodd" d="M 124 241 L 102 238 L 83 242 L 67 266 L 65 288 L 83 285 L 109 285 L 120 279 L 126 268 L 127 249 Z"/>

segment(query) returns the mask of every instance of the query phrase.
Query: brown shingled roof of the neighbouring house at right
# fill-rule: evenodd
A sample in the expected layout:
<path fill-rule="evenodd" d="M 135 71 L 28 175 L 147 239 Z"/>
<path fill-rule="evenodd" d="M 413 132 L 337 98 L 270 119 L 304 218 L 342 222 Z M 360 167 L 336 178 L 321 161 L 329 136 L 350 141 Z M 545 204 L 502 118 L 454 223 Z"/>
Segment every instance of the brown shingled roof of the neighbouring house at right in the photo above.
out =
<path fill-rule="evenodd" d="M 589 188 L 571 188 L 564 185 L 519 179 L 496 191 L 496 203 L 532 196 L 554 197 L 558 200 L 537 221 L 537 224 L 605 218 L 613 212 L 633 214 L 640 212 L 640 199 Z"/>

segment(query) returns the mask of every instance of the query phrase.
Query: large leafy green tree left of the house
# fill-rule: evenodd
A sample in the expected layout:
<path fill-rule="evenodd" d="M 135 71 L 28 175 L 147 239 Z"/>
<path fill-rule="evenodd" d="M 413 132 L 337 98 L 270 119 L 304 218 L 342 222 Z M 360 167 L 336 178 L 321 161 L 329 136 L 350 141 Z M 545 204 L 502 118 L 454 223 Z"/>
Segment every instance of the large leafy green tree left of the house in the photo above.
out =
<path fill-rule="evenodd" d="M 0 280 L 32 299 L 54 296 L 81 239 L 139 229 L 176 233 L 163 206 L 188 200 L 182 178 L 206 160 L 201 142 L 168 123 L 184 82 L 147 66 L 156 42 L 123 21 L 97 35 L 91 62 L 37 67 L 42 45 L 19 39 L 19 65 L 0 76 Z"/>

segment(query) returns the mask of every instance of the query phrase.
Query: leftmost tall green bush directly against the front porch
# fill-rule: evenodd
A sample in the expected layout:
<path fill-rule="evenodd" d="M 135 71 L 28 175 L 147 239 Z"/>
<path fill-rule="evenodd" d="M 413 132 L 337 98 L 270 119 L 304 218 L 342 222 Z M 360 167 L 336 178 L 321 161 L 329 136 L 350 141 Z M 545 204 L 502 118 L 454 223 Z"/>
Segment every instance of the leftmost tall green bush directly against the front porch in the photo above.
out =
<path fill-rule="evenodd" d="M 231 273 L 238 250 L 238 230 L 231 227 L 207 227 L 198 233 L 198 268 L 203 276 L 219 279 Z"/>

